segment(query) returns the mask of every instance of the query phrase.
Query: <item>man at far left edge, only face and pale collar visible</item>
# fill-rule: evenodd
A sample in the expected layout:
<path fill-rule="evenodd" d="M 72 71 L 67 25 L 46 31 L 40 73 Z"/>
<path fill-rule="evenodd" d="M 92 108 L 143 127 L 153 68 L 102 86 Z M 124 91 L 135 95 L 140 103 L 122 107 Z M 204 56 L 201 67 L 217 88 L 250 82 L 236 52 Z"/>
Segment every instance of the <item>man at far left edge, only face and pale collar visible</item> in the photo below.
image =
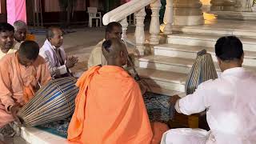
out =
<path fill-rule="evenodd" d="M 6 54 L 14 53 L 14 26 L 0 23 L 0 59 Z"/>

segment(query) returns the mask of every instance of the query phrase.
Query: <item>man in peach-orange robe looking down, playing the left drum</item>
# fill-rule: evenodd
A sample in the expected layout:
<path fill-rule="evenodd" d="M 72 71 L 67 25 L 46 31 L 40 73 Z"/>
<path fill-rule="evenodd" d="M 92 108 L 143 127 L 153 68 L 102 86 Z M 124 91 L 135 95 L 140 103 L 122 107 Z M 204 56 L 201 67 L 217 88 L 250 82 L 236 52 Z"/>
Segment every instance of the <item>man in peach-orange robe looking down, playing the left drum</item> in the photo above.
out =
<path fill-rule="evenodd" d="M 46 62 L 38 53 L 38 43 L 25 41 L 16 53 L 0 60 L 0 129 L 9 122 L 19 122 L 18 109 L 50 81 Z"/>

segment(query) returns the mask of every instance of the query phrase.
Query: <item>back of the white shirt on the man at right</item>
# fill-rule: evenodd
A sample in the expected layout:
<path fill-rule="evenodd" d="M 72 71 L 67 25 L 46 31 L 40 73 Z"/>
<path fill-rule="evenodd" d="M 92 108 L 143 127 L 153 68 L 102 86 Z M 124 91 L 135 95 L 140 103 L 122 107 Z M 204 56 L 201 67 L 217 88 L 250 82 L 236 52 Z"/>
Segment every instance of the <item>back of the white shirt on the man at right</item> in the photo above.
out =
<path fill-rule="evenodd" d="M 206 83 L 204 88 L 207 94 L 207 122 L 216 142 L 255 143 L 254 74 L 240 67 L 225 70 L 220 78 Z"/>

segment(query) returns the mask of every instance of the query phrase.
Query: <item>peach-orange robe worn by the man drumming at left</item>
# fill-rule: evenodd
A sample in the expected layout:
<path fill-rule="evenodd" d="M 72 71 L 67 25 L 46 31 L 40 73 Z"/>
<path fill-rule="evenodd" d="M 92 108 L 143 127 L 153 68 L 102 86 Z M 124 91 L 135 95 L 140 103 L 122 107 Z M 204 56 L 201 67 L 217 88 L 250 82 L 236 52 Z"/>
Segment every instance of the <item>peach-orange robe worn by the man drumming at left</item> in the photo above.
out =
<path fill-rule="evenodd" d="M 32 66 L 22 66 L 18 63 L 16 53 L 6 54 L 0 60 L 0 127 L 14 120 L 6 112 L 8 106 L 23 106 L 26 103 L 23 94 L 25 87 L 37 90 L 38 83 L 43 86 L 50 78 L 50 72 L 42 57 L 38 56 Z M 26 94 L 28 99 L 33 97 Z"/>

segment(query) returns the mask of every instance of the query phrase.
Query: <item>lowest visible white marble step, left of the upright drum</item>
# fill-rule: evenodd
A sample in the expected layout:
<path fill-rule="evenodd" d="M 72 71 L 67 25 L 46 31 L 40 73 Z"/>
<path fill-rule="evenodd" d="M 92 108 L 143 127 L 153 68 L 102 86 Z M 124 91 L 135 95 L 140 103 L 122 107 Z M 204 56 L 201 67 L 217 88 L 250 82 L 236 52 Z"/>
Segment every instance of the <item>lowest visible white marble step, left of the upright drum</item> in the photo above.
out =
<path fill-rule="evenodd" d="M 185 91 L 187 74 L 146 68 L 138 68 L 137 71 L 140 77 L 145 80 L 152 89 L 158 88 L 178 92 Z"/>

